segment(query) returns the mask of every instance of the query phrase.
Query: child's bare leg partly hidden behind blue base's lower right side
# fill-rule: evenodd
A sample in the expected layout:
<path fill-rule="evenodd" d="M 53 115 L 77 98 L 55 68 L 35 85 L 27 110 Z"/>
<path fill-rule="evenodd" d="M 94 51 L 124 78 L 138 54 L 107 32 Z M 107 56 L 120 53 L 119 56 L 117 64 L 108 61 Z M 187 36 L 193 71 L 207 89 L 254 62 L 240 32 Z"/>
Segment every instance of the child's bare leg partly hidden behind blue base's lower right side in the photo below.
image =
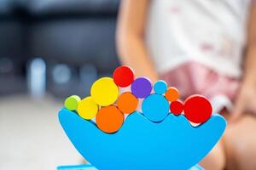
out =
<path fill-rule="evenodd" d="M 222 170 L 225 167 L 224 142 L 220 140 L 211 152 L 200 162 L 200 165 L 207 170 Z"/>

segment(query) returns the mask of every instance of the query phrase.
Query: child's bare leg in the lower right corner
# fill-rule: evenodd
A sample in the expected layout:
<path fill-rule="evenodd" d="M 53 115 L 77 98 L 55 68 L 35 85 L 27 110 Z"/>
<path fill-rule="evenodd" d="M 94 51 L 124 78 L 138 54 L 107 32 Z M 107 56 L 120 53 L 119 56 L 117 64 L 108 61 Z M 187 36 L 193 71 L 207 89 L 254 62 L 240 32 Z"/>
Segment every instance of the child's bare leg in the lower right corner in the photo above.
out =
<path fill-rule="evenodd" d="M 224 133 L 228 169 L 256 169 L 256 117 L 244 114 Z"/>

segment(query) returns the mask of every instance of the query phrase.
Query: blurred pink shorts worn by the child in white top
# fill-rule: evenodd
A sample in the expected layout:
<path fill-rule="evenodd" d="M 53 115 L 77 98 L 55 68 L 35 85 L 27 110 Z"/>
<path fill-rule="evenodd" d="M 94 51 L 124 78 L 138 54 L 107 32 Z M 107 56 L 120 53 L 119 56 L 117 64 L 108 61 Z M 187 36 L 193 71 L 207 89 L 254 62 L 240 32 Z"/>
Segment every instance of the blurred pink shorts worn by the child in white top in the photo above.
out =
<path fill-rule="evenodd" d="M 240 84 L 240 80 L 220 75 L 196 62 L 180 65 L 160 75 L 160 78 L 165 80 L 168 86 L 177 88 L 181 99 L 191 94 L 202 94 L 210 100 L 222 96 L 229 99 L 230 103 L 235 99 Z M 218 108 L 225 106 L 219 102 L 218 99 Z"/>

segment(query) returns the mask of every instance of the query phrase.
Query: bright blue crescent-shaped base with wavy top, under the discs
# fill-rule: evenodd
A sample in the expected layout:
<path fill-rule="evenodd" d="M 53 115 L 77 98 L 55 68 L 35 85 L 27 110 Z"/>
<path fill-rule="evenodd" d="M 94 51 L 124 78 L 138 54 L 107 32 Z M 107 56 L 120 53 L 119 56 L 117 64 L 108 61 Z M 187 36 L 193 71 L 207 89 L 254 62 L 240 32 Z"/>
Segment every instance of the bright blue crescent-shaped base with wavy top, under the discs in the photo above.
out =
<path fill-rule="evenodd" d="M 154 123 L 134 112 L 112 134 L 67 109 L 59 112 L 59 120 L 79 153 L 100 170 L 189 169 L 207 156 L 226 127 L 218 114 L 192 127 L 183 115 Z"/>

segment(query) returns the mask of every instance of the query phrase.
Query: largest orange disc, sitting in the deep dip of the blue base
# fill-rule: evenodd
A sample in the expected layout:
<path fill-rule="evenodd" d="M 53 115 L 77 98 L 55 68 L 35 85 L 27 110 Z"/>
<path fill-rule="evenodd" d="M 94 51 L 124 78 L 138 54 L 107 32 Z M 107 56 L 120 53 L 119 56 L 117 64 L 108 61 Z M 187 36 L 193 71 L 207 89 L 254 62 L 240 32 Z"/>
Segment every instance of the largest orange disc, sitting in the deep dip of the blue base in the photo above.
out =
<path fill-rule="evenodd" d="M 115 133 L 122 127 L 124 114 L 115 105 L 102 107 L 96 115 L 96 125 L 105 133 Z"/>

